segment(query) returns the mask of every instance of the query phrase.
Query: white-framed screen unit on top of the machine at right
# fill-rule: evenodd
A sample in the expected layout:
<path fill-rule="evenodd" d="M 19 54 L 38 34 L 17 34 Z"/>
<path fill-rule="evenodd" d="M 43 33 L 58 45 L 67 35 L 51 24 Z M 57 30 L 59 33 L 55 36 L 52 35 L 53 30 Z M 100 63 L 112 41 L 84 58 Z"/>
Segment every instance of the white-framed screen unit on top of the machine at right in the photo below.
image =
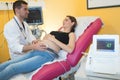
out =
<path fill-rule="evenodd" d="M 119 35 L 94 35 L 93 49 L 95 54 L 119 53 Z"/>

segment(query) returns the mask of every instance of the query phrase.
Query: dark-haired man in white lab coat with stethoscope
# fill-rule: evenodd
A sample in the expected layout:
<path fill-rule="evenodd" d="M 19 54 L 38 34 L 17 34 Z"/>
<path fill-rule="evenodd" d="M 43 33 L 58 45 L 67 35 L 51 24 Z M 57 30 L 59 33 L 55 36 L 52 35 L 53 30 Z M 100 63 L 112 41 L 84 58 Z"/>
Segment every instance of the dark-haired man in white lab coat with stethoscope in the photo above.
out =
<path fill-rule="evenodd" d="M 4 36 L 8 42 L 11 59 L 22 56 L 31 50 L 45 50 L 46 46 L 32 35 L 24 19 L 28 17 L 28 4 L 19 0 L 13 3 L 15 16 L 4 27 Z"/>

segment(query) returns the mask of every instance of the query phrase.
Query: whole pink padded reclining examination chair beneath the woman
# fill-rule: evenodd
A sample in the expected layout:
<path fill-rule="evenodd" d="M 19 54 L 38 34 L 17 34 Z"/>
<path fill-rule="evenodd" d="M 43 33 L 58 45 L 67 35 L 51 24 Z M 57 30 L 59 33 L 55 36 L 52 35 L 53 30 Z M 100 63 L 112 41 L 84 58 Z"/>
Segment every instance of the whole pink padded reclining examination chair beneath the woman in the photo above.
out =
<path fill-rule="evenodd" d="M 76 46 L 72 53 L 68 53 L 67 58 L 62 61 L 57 61 L 52 64 L 44 65 L 32 76 L 32 80 L 53 80 L 58 76 L 68 72 L 71 68 L 75 67 L 82 57 L 82 52 L 88 48 L 92 42 L 94 34 L 100 30 L 102 21 L 100 18 L 96 18 L 92 21 L 84 30 L 82 35 L 78 36 L 76 40 Z M 81 26 L 79 26 L 81 27 Z"/>

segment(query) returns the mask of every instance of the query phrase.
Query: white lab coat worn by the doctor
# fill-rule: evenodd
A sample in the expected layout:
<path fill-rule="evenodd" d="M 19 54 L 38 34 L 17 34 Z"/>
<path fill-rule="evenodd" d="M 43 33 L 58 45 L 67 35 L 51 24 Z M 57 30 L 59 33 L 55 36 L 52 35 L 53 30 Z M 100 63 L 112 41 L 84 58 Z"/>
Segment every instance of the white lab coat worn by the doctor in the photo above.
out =
<path fill-rule="evenodd" d="M 22 32 L 17 25 L 16 21 L 22 28 Z M 22 56 L 24 53 L 22 52 L 23 46 L 30 44 L 36 38 L 32 35 L 31 30 L 26 22 L 24 22 L 25 30 L 23 29 L 22 24 L 19 19 L 14 16 L 12 20 L 10 20 L 4 27 L 4 36 L 8 42 L 9 53 L 11 59 L 15 59 L 18 56 Z M 26 37 L 26 39 L 25 39 Z"/>

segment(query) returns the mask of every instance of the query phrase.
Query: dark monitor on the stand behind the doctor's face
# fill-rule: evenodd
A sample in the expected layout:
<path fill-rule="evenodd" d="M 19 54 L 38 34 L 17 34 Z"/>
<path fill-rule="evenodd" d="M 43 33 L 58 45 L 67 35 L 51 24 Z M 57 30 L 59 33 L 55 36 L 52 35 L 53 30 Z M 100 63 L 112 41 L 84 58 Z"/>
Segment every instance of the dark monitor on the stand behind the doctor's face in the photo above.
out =
<path fill-rule="evenodd" d="M 25 21 L 29 25 L 41 25 L 43 24 L 42 8 L 41 7 L 29 7 L 28 18 Z"/>

